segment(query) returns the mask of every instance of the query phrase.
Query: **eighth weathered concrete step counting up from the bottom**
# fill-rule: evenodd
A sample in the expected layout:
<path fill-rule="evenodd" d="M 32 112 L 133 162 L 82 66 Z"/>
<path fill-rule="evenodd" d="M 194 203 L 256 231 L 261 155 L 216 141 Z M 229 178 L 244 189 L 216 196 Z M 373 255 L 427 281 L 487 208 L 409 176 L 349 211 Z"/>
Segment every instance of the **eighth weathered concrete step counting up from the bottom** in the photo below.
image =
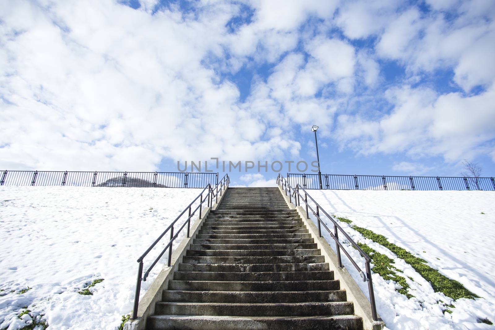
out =
<path fill-rule="evenodd" d="M 319 249 L 298 250 L 187 250 L 187 256 L 206 257 L 278 257 L 278 256 L 316 256 Z"/>

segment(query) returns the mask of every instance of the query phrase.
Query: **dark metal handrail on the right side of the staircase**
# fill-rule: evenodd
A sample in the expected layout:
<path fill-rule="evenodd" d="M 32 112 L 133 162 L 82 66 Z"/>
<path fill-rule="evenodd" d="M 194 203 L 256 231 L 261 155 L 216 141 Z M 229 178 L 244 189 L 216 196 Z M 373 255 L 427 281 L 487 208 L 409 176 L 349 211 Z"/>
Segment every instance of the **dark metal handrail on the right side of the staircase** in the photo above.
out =
<path fill-rule="evenodd" d="M 328 214 L 321 206 L 318 204 L 313 197 L 311 197 L 305 189 L 303 189 L 299 184 L 297 184 L 296 189 L 293 189 L 289 182 L 282 176 L 278 175 L 277 177 L 277 185 L 282 186 L 282 188 L 285 190 L 286 196 L 289 196 L 289 201 L 292 203 L 292 196 L 294 196 L 294 204 L 296 206 L 300 206 L 300 199 L 306 204 L 306 218 L 309 219 L 309 209 L 313 213 L 313 215 L 316 217 L 318 221 L 318 236 L 323 237 L 321 235 L 321 225 L 327 230 L 327 232 L 330 234 L 330 236 L 335 240 L 336 244 L 336 249 L 337 249 L 337 259 L 339 262 L 339 268 L 343 268 L 344 266 L 342 265 L 342 258 L 341 258 L 341 248 L 346 254 L 347 258 L 349 261 L 352 263 L 352 265 L 357 269 L 359 272 L 359 275 L 361 276 L 363 282 L 368 282 L 368 291 L 369 291 L 369 296 L 370 296 L 370 304 L 371 304 L 371 314 L 373 316 L 374 321 L 378 321 L 378 315 L 376 312 L 376 303 L 375 303 L 375 293 L 373 290 L 373 280 L 371 278 L 371 258 L 359 247 L 359 245 L 354 242 L 352 238 L 350 238 L 349 235 L 342 229 L 342 227 L 337 223 L 337 221 L 330 215 Z M 289 194 L 287 193 L 287 190 L 289 190 Z M 293 193 L 291 192 L 294 191 Z M 302 190 L 304 192 L 304 198 L 302 197 L 301 193 L 299 190 Z M 316 205 L 316 211 L 309 205 L 307 197 L 310 198 L 311 201 Z M 320 210 L 325 214 L 334 224 L 334 233 L 327 227 L 327 225 L 323 222 L 323 220 L 320 218 Z M 344 245 L 339 241 L 339 231 L 346 236 L 347 240 L 352 244 L 352 246 L 361 254 L 361 256 L 365 260 L 365 268 L 366 268 L 366 274 L 361 270 L 361 268 L 356 264 L 354 259 L 347 253 L 346 248 Z"/>

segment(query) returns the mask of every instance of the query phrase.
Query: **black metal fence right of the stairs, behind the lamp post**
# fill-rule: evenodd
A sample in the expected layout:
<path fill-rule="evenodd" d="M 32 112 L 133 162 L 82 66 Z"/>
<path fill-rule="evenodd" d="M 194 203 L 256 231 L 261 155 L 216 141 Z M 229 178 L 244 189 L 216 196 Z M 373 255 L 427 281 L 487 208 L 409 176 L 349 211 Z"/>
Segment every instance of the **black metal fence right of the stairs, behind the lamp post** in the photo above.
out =
<path fill-rule="evenodd" d="M 287 173 L 292 187 L 320 189 L 318 174 Z M 495 190 L 494 178 L 400 177 L 379 175 L 322 174 L 323 189 L 359 190 Z"/>

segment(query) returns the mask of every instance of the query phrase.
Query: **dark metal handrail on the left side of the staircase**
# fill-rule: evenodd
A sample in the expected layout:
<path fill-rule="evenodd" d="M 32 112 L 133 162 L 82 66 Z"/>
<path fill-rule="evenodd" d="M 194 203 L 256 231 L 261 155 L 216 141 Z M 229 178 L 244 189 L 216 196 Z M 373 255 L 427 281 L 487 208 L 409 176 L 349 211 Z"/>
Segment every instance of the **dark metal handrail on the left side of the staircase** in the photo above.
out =
<path fill-rule="evenodd" d="M 163 254 L 165 253 L 165 251 L 167 249 L 168 249 L 167 266 L 170 267 L 171 261 L 172 261 L 172 245 L 173 245 L 174 240 L 179 236 L 180 232 L 184 229 L 184 227 L 186 227 L 186 224 L 188 225 L 187 226 L 187 237 L 189 238 L 190 228 L 191 228 L 191 218 L 195 215 L 196 211 L 198 211 L 198 209 L 199 209 L 199 218 L 201 218 L 203 203 L 207 201 L 207 207 L 212 207 L 213 206 L 213 197 L 215 197 L 215 203 L 217 203 L 218 202 L 219 189 L 220 189 L 220 196 L 221 196 L 223 187 L 225 186 L 227 188 L 229 186 L 229 184 L 230 184 L 230 178 L 229 178 L 228 174 L 225 174 L 225 176 L 220 180 L 220 182 L 215 186 L 215 188 L 211 188 L 210 184 L 206 185 L 206 187 L 204 187 L 203 190 L 201 190 L 199 195 L 191 203 L 189 203 L 188 206 L 186 206 L 186 208 L 179 214 L 179 216 L 163 231 L 163 233 L 160 236 L 158 236 L 157 239 L 155 239 L 155 241 L 148 247 L 148 249 L 146 249 L 145 253 L 143 253 L 141 255 L 141 257 L 138 258 L 138 264 L 139 264 L 139 266 L 138 266 L 138 278 L 136 281 L 136 292 L 134 295 L 134 308 L 132 311 L 132 319 L 136 319 L 138 317 L 139 295 L 141 293 L 141 282 L 146 281 L 146 279 L 148 278 L 149 272 L 153 269 L 153 267 L 160 260 L 160 258 L 163 256 Z M 208 189 L 208 192 L 207 192 L 208 198 L 203 199 L 203 193 L 204 193 L 204 190 L 206 190 L 206 189 Z M 215 192 L 215 189 L 216 189 L 216 192 Z M 198 198 L 199 198 L 199 204 L 193 211 L 192 210 L 193 204 L 198 200 Z M 189 210 L 189 212 L 188 212 L 187 220 L 184 221 L 182 226 L 179 228 L 177 233 L 175 233 L 175 235 L 174 235 L 175 223 L 188 210 Z M 169 242 L 165 245 L 165 247 L 163 248 L 161 253 L 158 255 L 158 257 L 156 257 L 155 260 L 151 263 L 151 265 L 148 267 L 148 270 L 145 272 L 145 274 L 143 276 L 143 260 L 144 260 L 144 258 L 148 255 L 149 251 L 151 251 L 153 249 L 153 247 L 156 245 L 156 243 L 158 243 L 160 241 L 160 239 L 162 239 L 163 236 L 165 236 L 165 234 L 168 231 L 170 231 Z"/>

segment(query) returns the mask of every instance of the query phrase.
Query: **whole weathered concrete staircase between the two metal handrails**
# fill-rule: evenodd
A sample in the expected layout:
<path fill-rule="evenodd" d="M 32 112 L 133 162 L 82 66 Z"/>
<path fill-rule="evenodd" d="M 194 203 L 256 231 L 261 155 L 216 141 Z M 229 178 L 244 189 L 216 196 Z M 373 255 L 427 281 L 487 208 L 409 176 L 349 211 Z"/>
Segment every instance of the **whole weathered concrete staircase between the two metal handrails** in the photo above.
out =
<path fill-rule="evenodd" d="M 147 329 L 362 329 L 346 291 L 277 188 L 229 188 Z"/>

